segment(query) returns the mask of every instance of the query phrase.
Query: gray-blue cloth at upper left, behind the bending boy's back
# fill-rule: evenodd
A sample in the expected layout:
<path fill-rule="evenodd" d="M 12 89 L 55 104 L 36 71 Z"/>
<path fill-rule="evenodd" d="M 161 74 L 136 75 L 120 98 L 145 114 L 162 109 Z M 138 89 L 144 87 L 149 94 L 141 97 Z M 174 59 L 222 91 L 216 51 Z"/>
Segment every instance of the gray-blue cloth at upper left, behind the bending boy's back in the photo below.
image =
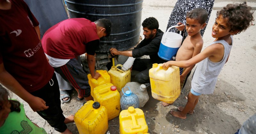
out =
<path fill-rule="evenodd" d="M 41 38 L 45 31 L 68 19 L 62 0 L 24 0 L 39 22 Z"/>

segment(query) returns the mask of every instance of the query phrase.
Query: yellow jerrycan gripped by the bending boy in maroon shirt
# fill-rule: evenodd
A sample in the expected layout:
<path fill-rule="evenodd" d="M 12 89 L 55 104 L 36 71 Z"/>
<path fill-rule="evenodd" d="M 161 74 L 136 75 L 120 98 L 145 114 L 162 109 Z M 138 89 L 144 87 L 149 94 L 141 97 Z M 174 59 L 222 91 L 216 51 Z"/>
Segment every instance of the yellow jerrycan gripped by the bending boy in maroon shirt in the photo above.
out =
<path fill-rule="evenodd" d="M 98 79 L 92 78 L 92 75 L 89 73 L 87 75 L 89 85 L 91 86 L 91 95 L 94 97 L 93 89 L 96 86 L 100 86 L 105 83 L 110 83 L 110 76 L 108 75 L 108 71 L 106 70 L 96 70 L 101 76 Z"/>

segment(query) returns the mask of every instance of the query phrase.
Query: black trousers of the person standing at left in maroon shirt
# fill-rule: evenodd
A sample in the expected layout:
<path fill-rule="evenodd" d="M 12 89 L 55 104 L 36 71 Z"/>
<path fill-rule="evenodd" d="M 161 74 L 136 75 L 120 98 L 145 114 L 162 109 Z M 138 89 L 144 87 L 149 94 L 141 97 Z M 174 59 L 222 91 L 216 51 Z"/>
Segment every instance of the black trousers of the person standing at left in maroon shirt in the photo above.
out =
<path fill-rule="evenodd" d="M 52 79 L 41 89 L 32 92 L 32 95 L 43 99 L 49 108 L 37 113 L 43 117 L 56 131 L 64 132 L 67 125 L 64 123 L 65 117 L 60 107 L 60 89 L 55 73 Z"/>

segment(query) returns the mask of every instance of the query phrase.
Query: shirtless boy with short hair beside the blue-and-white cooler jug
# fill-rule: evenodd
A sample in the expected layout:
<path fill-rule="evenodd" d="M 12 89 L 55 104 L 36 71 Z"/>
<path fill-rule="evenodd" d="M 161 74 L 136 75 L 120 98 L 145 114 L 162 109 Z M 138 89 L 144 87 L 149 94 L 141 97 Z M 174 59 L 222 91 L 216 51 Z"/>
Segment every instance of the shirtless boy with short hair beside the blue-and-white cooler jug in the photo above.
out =
<path fill-rule="evenodd" d="M 181 47 L 177 52 L 176 61 L 189 60 L 201 52 L 204 41 L 202 39 L 200 30 L 204 29 L 207 17 L 208 12 L 203 8 L 196 8 L 187 13 L 186 31 L 188 32 L 188 36 L 183 41 Z M 194 66 L 195 65 L 192 65 L 188 68 L 180 68 L 181 85 L 183 85 L 184 80 L 186 79 L 186 77 L 188 77 L 190 71 L 194 68 Z M 182 89 L 182 87 L 183 86 L 181 86 L 180 88 Z M 160 105 L 166 107 L 171 104 L 166 102 L 160 102 Z"/>

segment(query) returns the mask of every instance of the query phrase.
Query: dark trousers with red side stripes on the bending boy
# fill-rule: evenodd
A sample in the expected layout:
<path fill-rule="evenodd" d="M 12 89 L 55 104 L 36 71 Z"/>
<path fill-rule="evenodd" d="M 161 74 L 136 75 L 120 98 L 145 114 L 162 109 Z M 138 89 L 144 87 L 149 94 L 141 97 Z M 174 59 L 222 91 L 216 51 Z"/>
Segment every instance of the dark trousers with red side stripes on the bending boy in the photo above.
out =
<path fill-rule="evenodd" d="M 64 80 L 78 89 L 81 96 L 89 97 L 91 95 L 91 87 L 88 83 L 87 74 L 81 65 L 80 57 L 70 59 L 65 65 L 54 69 Z"/>

